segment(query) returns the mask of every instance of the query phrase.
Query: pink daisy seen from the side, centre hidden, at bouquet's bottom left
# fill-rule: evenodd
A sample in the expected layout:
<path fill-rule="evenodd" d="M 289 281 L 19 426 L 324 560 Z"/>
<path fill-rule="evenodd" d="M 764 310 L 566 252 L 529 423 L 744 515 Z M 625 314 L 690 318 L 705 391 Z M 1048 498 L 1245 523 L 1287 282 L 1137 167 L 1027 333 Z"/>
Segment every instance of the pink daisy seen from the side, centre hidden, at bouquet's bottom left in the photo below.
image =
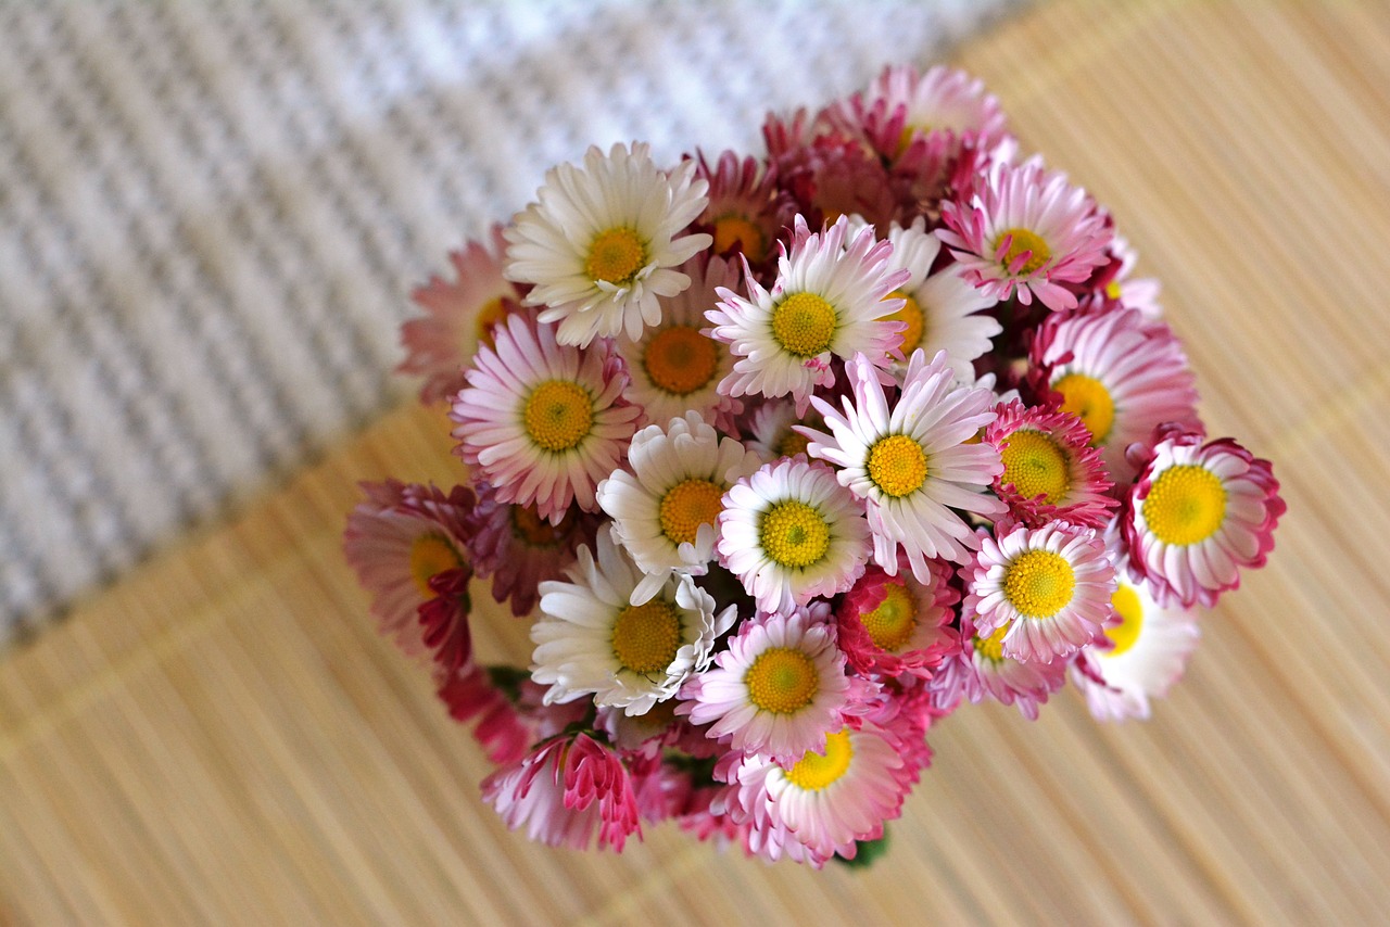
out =
<path fill-rule="evenodd" d="M 555 737 L 518 763 L 482 780 L 482 799 L 507 827 L 548 846 L 623 852 L 642 835 L 632 781 L 623 760 L 588 734 Z"/>

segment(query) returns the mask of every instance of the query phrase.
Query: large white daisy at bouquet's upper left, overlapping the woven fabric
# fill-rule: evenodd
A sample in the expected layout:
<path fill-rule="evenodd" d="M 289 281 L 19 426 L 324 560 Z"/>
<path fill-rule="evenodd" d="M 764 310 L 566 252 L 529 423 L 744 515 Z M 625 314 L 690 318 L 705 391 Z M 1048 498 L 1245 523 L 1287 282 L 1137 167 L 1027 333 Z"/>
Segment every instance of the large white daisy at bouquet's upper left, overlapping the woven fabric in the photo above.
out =
<path fill-rule="evenodd" d="M 705 208 L 706 182 L 685 161 L 669 175 L 649 147 L 591 147 L 584 167 L 545 175 L 537 203 L 506 231 L 506 277 L 531 284 L 528 306 L 559 322 L 562 345 L 626 334 L 631 341 L 662 318 L 660 297 L 689 286 L 676 270 L 709 247 L 709 235 L 680 235 Z M 680 236 L 678 236 L 680 235 Z"/>

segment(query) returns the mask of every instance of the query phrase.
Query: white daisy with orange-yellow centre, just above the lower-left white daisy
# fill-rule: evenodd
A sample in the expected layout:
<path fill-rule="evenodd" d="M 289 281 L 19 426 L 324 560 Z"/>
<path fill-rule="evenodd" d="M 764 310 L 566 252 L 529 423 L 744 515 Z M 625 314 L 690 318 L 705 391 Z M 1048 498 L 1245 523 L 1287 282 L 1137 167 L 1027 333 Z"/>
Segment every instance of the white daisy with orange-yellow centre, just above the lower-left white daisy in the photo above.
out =
<path fill-rule="evenodd" d="M 632 591 L 632 605 L 642 605 L 673 570 L 705 574 L 724 493 L 762 461 L 691 411 L 639 431 L 627 463 L 631 473 L 617 470 L 599 484 L 598 502 L 613 518 L 613 535 L 646 574 Z"/>

